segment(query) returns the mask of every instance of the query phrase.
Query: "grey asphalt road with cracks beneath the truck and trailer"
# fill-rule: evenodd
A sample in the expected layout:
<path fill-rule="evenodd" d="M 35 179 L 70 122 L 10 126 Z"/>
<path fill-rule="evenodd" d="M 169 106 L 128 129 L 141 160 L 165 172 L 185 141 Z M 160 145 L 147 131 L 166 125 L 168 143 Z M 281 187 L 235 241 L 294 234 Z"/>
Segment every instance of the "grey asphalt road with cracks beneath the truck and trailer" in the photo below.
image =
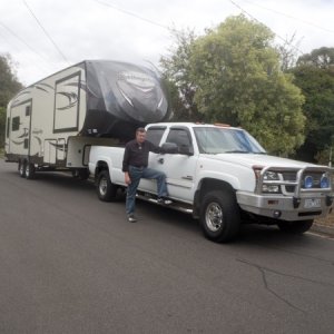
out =
<path fill-rule="evenodd" d="M 333 333 L 334 240 L 101 203 L 91 183 L 0 159 L 0 333 Z"/>

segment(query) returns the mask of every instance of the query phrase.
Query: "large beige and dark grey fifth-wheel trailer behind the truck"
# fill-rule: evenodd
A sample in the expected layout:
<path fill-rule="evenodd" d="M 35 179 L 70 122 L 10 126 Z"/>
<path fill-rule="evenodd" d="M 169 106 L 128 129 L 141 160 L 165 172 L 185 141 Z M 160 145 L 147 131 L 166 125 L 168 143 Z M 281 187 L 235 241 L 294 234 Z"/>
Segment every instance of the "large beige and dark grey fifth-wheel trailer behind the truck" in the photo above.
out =
<path fill-rule="evenodd" d="M 6 159 L 22 177 L 70 169 L 88 177 L 91 145 L 130 139 L 147 122 L 168 120 L 164 85 L 155 70 L 110 60 L 86 60 L 47 77 L 11 99 Z"/>

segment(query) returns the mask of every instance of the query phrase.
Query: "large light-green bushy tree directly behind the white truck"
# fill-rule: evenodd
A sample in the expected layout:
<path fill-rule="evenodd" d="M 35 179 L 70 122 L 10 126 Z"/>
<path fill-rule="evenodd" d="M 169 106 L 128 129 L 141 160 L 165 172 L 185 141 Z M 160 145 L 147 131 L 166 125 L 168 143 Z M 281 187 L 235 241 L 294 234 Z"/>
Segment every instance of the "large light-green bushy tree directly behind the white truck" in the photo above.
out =
<path fill-rule="evenodd" d="M 230 17 L 203 37 L 184 39 L 161 66 L 177 87 L 190 88 L 188 105 L 203 120 L 242 126 L 268 151 L 287 155 L 304 140 L 303 96 L 282 72 L 273 38 L 265 26 Z"/>

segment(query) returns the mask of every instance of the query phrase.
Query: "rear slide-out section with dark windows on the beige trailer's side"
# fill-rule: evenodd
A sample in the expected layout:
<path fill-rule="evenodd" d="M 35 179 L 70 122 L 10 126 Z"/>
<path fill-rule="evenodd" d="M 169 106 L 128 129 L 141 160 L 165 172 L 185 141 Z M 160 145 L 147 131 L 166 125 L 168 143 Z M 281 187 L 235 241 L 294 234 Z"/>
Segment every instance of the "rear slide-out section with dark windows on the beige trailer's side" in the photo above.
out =
<path fill-rule="evenodd" d="M 10 109 L 9 153 L 30 155 L 32 100 L 23 101 Z"/>

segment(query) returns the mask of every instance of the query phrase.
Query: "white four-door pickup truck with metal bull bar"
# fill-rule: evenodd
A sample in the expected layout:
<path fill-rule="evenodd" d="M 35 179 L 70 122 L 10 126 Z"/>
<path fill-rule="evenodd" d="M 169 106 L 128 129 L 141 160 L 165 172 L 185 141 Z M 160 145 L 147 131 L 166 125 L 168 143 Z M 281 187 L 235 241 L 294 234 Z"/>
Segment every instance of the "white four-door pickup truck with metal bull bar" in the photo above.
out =
<path fill-rule="evenodd" d="M 149 167 L 167 175 L 170 207 L 199 218 L 214 242 L 230 240 L 242 223 L 252 222 L 304 233 L 332 210 L 333 169 L 269 156 L 240 128 L 160 122 L 146 129 L 148 140 L 171 153 L 149 156 Z M 124 146 L 90 148 L 89 170 L 101 200 L 126 189 L 122 155 Z M 155 181 L 143 179 L 137 196 L 155 203 Z"/>

